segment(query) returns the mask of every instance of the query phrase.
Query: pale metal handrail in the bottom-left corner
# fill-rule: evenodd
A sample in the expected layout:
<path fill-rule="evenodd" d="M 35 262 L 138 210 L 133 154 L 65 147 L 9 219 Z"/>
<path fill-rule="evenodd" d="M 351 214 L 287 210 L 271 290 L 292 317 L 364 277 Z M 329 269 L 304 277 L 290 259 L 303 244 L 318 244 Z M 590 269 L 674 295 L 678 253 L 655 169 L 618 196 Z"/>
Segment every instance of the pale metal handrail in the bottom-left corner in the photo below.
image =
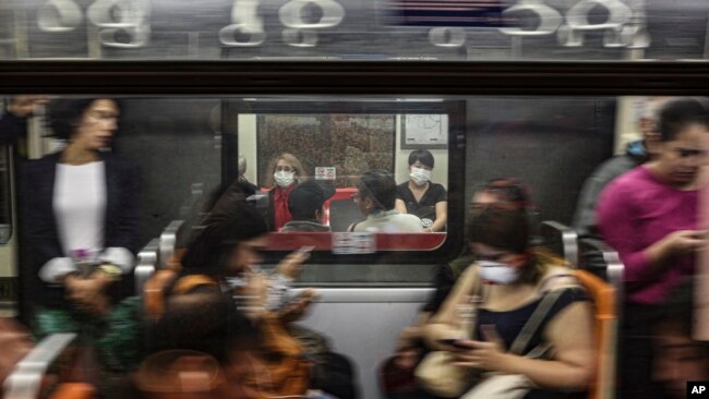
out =
<path fill-rule="evenodd" d="M 76 334 L 52 334 L 43 339 L 15 365 L 4 382 L 5 399 L 35 399 L 39 396 L 47 368 L 76 338 Z"/>

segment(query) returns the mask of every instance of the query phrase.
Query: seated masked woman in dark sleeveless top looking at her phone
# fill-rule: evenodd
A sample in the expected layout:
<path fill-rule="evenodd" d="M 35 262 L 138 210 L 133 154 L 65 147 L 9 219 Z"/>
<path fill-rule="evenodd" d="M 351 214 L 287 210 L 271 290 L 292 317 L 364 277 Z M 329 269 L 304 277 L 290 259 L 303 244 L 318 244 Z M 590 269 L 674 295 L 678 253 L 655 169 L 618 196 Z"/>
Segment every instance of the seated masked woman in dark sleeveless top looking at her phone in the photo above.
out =
<path fill-rule="evenodd" d="M 460 366 L 522 375 L 530 387 L 525 398 L 586 389 L 593 372 L 590 304 L 567 269 L 529 246 L 526 213 L 481 209 L 469 222 L 469 238 L 478 261 L 424 327 L 426 341 L 452 352 Z M 480 299 L 477 323 L 472 337 L 461 336 L 457 314 L 471 298 Z M 531 319 L 539 325 L 520 335 Z M 541 351 L 545 347 L 551 351 Z"/>

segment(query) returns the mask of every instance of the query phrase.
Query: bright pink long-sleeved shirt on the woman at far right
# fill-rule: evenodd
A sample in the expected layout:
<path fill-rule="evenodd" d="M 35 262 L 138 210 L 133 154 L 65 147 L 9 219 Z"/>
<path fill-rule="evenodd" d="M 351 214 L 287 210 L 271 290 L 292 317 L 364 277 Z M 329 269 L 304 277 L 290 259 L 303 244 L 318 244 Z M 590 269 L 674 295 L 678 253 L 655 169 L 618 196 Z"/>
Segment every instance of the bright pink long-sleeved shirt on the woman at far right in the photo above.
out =
<path fill-rule="evenodd" d="M 673 231 L 696 230 L 698 204 L 698 191 L 664 184 L 644 166 L 603 190 L 596 209 L 598 227 L 625 264 L 628 302 L 660 304 L 677 282 L 694 273 L 693 255 L 675 256 L 661 271 L 651 273 L 644 251 Z"/>

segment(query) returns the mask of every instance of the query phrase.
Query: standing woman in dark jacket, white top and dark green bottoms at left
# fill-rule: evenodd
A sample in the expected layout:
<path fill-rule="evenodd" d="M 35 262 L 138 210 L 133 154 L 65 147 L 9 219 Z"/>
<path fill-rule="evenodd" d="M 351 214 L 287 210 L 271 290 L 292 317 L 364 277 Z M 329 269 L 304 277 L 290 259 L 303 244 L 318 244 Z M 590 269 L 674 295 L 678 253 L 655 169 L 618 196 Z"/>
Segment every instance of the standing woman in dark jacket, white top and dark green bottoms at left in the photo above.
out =
<path fill-rule="evenodd" d="M 133 292 L 140 192 L 135 166 L 104 150 L 118 117 L 109 98 L 52 101 L 49 122 L 68 145 L 27 164 L 22 204 L 38 276 L 36 337 L 79 332 L 101 364 L 120 372 L 136 360 L 136 299 L 119 301 Z"/>

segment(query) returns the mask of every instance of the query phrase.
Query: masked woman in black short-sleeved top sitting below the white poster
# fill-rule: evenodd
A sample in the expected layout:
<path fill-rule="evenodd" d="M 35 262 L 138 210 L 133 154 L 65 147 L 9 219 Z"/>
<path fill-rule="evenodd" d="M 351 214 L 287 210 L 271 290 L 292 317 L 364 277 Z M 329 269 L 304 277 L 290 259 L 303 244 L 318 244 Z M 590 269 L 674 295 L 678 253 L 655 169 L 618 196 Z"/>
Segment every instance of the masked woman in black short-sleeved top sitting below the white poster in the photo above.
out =
<path fill-rule="evenodd" d="M 423 231 L 445 230 L 448 197 L 443 185 L 431 182 L 433 155 L 417 149 L 409 155 L 409 181 L 396 186 L 396 210 L 421 219 Z"/>

